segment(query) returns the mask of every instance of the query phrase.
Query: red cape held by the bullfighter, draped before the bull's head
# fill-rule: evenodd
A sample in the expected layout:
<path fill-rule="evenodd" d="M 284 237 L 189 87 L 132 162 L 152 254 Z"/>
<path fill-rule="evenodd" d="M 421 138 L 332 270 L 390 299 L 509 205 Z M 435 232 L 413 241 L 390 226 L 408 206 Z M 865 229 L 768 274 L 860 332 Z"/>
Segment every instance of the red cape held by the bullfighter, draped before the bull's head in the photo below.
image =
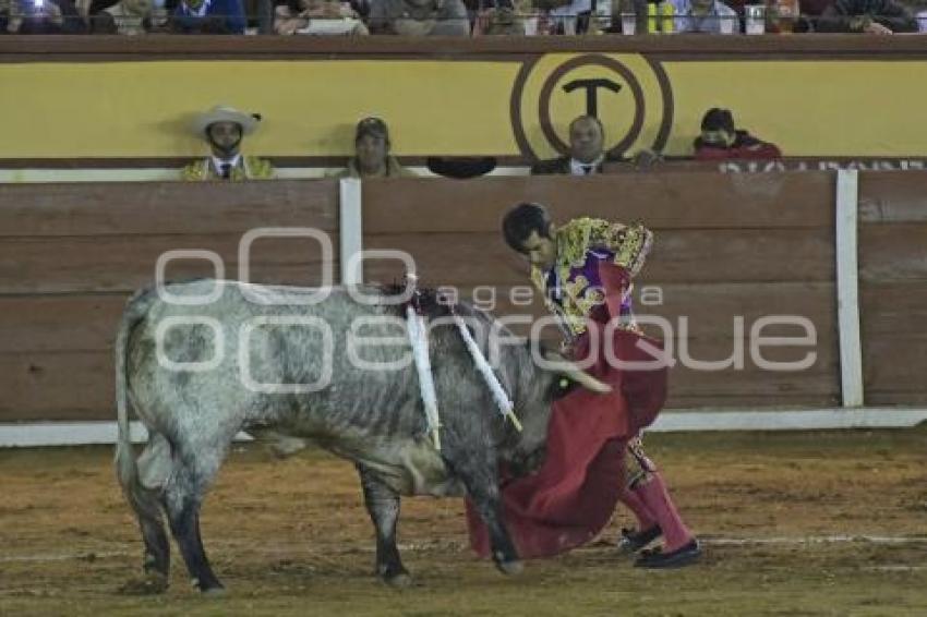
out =
<path fill-rule="evenodd" d="M 637 334 L 618 330 L 611 343 L 622 360 L 652 361 Z M 580 339 L 577 358 L 589 353 Z M 660 347 L 657 341 L 647 342 Z M 666 396 L 666 370 L 621 371 L 603 354 L 588 372 L 613 390 L 577 389 L 556 401 L 547 425 L 546 458 L 533 475 L 503 481 L 506 529 L 522 558 L 549 557 L 586 544 L 609 523 L 625 482 L 625 444 L 657 418 Z M 470 545 L 490 555 L 482 519 L 467 503 Z"/>

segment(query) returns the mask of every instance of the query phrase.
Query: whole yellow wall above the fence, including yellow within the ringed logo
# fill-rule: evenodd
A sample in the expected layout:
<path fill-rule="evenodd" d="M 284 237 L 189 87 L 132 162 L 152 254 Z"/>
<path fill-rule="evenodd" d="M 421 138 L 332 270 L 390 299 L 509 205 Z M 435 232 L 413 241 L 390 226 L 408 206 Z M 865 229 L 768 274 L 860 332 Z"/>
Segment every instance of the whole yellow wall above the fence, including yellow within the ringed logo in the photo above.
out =
<path fill-rule="evenodd" d="M 538 125 L 538 93 L 556 66 L 574 58 L 546 55 L 525 82 L 517 105 L 538 155 L 554 154 Z M 663 121 L 655 73 L 638 55 L 609 58 L 641 84 L 647 109 L 634 148 L 649 146 Z M 376 114 L 390 124 L 396 154 L 519 156 L 510 105 L 521 65 L 518 57 L 3 63 L 0 158 L 198 155 L 203 144 L 186 126 L 196 111 L 218 102 L 264 116 L 248 142 L 251 154 L 345 155 L 357 120 Z M 663 68 L 675 104 L 671 155 L 689 154 L 701 114 L 713 106 L 733 109 L 741 125 L 791 156 L 927 154 L 920 120 L 927 61 L 674 61 Z M 586 65 L 558 85 L 602 71 Z M 601 111 L 615 135 L 627 129 L 633 106 L 626 97 L 613 98 Z M 562 137 L 582 111 L 580 99 L 552 99 Z"/>

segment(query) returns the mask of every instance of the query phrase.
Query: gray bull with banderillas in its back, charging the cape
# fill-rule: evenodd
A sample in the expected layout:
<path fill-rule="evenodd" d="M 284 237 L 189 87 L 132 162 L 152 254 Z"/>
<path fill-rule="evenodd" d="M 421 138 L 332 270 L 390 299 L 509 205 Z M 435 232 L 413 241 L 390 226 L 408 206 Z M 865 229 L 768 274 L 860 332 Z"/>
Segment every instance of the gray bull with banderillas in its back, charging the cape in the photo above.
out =
<path fill-rule="evenodd" d="M 499 414 L 457 327 L 444 323 L 431 329 L 429 339 L 441 411 L 437 450 L 428 436 L 414 365 L 390 371 L 358 366 L 357 358 L 410 356 L 408 341 L 405 347 L 400 338 L 393 347 L 354 346 L 353 358 L 346 351 L 358 340 L 351 339 L 352 324 L 365 318 L 393 323 L 369 323 L 354 334 L 404 335 L 402 308 L 386 303 L 383 290 L 357 288 L 375 300 L 368 303 L 344 288 L 321 302 L 311 302 L 315 289 L 233 281 L 165 289 L 170 302 L 154 290 L 130 300 L 116 340 L 117 470 L 141 525 L 145 570 L 149 581 L 158 581 L 156 591 L 167 584 L 170 560 L 161 511 L 194 584 L 202 591 L 221 589 L 203 549 L 200 507 L 242 430 L 311 438 L 357 464 L 376 531 L 376 569 L 387 582 L 409 580 L 396 547 L 400 495 L 468 495 L 486 523 L 497 567 L 520 571 L 503 521 L 498 465 L 523 465 L 543 450 L 563 375 L 599 391 L 607 386 L 565 362 L 557 372 L 539 368 L 528 346 L 501 346 L 496 374 L 523 426 L 518 433 Z M 185 303 L 214 290 L 221 291 L 214 301 Z M 498 324 L 467 304 L 457 310 L 489 355 L 490 334 Z M 294 326 L 294 318 L 303 323 Z M 326 373 L 327 385 L 305 388 L 312 391 L 272 392 L 262 385 L 313 384 Z M 149 432 L 137 461 L 129 437 L 130 404 Z"/>

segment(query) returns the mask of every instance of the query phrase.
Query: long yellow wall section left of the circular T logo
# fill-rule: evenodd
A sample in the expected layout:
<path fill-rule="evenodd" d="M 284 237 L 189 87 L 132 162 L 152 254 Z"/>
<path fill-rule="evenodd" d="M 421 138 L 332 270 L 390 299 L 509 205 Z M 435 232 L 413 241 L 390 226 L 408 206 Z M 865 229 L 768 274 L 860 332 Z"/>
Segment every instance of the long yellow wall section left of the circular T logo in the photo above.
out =
<path fill-rule="evenodd" d="M 499 126 L 509 124 L 518 68 L 434 61 L 0 64 L 0 158 L 198 154 L 189 123 L 220 102 L 264 117 L 249 140 L 253 154 L 345 154 L 353 125 L 370 114 L 390 124 L 397 152 L 514 153 L 511 131 Z M 468 120 L 480 126 L 465 126 Z"/>

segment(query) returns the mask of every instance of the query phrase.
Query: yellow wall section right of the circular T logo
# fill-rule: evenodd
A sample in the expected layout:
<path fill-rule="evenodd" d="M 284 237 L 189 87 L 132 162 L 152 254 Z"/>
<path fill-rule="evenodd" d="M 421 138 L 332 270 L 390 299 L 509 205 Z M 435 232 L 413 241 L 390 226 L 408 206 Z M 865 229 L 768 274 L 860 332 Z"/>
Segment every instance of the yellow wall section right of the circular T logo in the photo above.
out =
<path fill-rule="evenodd" d="M 690 145 L 702 110 L 727 107 L 791 156 L 927 154 L 927 62 L 678 62 L 666 72 L 674 153 Z"/>

